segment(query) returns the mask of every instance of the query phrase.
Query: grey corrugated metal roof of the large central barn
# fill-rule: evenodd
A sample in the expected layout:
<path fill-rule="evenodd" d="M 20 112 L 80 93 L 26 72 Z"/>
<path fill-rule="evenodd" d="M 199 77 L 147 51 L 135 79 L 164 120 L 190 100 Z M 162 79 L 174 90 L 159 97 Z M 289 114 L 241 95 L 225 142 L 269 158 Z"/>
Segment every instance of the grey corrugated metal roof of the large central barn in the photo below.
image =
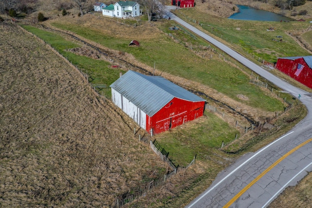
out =
<path fill-rule="evenodd" d="M 149 116 L 175 97 L 192 102 L 205 101 L 161 76 L 146 76 L 134 71 L 128 71 L 110 87 Z"/>

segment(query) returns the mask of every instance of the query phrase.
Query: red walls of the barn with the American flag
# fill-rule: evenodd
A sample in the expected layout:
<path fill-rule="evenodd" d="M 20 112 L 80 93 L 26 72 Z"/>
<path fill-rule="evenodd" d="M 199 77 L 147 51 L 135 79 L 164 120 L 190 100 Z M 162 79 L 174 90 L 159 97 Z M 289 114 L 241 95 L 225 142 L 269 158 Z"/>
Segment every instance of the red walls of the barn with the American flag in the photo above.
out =
<path fill-rule="evenodd" d="M 297 71 L 298 63 L 303 65 L 304 68 L 301 73 L 296 76 L 295 73 Z M 279 58 L 277 59 L 275 68 L 307 87 L 312 88 L 312 69 L 303 58 L 297 58 L 295 60 Z"/>

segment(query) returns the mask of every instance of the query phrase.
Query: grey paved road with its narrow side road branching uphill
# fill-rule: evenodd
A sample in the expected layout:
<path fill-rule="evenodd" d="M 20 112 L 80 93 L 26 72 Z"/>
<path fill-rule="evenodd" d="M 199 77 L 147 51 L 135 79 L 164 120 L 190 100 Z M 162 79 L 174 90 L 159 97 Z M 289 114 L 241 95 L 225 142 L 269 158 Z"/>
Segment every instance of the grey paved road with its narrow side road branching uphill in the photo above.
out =
<path fill-rule="evenodd" d="M 175 7 L 167 7 L 175 9 Z M 312 94 L 273 76 L 234 50 L 177 18 L 169 10 L 167 17 L 206 39 L 258 75 L 300 100 L 308 115 L 290 132 L 254 153 L 242 156 L 231 167 L 219 173 L 213 184 L 195 198 L 187 208 L 262 208 L 267 207 L 287 186 L 312 171 Z"/>

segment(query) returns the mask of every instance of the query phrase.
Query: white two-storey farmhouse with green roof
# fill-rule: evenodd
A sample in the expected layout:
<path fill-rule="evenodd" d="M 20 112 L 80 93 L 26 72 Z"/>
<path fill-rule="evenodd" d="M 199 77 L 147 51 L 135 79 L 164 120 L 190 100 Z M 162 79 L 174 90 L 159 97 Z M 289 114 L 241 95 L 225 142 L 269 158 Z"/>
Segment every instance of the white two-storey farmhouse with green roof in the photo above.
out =
<path fill-rule="evenodd" d="M 129 18 L 142 15 L 142 10 L 140 4 L 135 1 L 118 1 L 103 8 L 102 14 L 108 17 Z"/>

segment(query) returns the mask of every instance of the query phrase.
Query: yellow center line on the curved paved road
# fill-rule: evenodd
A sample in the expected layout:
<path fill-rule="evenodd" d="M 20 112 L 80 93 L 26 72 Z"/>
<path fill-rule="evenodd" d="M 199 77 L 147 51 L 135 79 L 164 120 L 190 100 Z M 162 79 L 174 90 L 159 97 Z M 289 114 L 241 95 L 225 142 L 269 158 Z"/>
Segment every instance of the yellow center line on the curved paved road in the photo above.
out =
<path fill-rule="evenodd" d="M 251 186 L 253 186 L 262 176 L 264 176 L 267 172 L 272 170 L 278 163 L 280 163 L 282 160 L 284 160 L 287 156 L 292 154 L 294 151 L 298 150 L 302 146 L 308 144 L 309 142 L 312 141 L 312 138 L 305 141 L 304 143 L 298 145 L 297 147 L 293 148 L 291 151 L 287 152 L 284 154 L 282 157 L 280 157 L 278 160 L 276 160 L 269 168 L 264 170 L 260 175 L 258 175 L 252 182 L 250 182 L 244 189 L 241 189 L 223 208 L 228 208 L 230 207 L 234 201 L 236 201 L 246 190 L 248 190 Z"/>

